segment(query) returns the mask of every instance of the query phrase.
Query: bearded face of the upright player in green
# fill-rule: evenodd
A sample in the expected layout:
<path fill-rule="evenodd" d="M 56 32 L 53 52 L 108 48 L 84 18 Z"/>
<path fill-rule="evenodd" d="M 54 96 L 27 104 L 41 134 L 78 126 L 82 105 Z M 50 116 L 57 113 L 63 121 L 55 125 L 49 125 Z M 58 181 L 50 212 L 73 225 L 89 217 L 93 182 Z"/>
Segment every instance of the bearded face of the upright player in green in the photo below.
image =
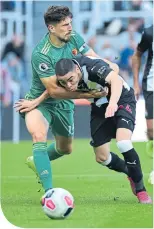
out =
<path fill-rule="evenodd" d="M 68 42 L 72 32 L 72 19 L 66 17 L 63 21 L 54 26 L 53 35 L 60 41 Z"/>

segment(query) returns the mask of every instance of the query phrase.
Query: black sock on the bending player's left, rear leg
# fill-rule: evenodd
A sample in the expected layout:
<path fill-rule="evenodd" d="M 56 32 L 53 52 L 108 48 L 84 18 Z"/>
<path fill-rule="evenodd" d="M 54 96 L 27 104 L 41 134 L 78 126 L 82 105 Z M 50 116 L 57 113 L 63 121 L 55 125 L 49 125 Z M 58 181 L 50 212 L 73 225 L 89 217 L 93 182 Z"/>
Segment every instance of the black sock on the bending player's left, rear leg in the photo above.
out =
<path fill-rule="evenodd" d="M 112 152 L 111 152 L 111 156 L 112 156 L 112 160 L 106 166 L 111 170 L 114 170 L 120 173 L 125 173 L 126 175 L 128 175 L 128 169 L 125 164 L 125 161 Z"/>

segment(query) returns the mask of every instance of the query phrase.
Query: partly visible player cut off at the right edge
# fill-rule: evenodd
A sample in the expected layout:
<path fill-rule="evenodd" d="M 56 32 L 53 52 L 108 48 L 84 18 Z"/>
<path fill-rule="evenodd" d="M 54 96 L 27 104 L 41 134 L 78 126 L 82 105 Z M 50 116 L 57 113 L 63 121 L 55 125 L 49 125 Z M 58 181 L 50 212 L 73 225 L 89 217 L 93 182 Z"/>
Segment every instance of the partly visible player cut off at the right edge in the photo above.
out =
<path fill-rule="evenodd" d="M 139 70 L 141 66 L 141 58 L 143 54 L 148 51 L 147 62 L 142 79 L 142 89 L 145 99 L 145 118 L 147 122 L 147 153 L 152 156 L 153 154 L 153 25 L 145 28 L 141 41 L 139 42 L 137 49 L 132 57 L 132 66 L 134 73 L 134 90 L 136 98 L 139 98 L 141 93 L 139 85 Z"/>

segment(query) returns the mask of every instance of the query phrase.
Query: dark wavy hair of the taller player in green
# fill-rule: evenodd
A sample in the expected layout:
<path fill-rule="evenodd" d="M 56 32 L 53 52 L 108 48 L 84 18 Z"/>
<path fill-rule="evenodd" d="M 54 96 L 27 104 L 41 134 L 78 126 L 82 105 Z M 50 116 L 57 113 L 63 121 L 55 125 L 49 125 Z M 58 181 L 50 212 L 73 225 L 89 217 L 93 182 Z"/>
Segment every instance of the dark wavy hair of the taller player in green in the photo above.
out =
<path fill-rule="evenodd" d="M 63 21 L 66 17 L 73 17 L 67 6 L 50 6 L 44 14 L 44 21 L 48 27 L 50 24 Z"/>

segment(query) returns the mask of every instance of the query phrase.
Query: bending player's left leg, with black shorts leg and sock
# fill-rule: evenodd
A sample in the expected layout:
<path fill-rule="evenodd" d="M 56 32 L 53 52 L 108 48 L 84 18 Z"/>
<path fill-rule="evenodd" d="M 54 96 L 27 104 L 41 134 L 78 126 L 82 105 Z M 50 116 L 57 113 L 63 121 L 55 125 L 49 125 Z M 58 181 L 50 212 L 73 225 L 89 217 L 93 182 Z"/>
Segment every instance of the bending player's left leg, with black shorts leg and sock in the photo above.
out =
<path fill-rule="evenodd" d="M 128 174 L 125 161 L 115 153 L 110 152 L 109 142 L 115 137 L 116 128 L 113 118 L 105 118 L 105 109 L 92 105 L 90 121 L 91 145 L 94 147 L 96 161 L 111 170 Z"/>

